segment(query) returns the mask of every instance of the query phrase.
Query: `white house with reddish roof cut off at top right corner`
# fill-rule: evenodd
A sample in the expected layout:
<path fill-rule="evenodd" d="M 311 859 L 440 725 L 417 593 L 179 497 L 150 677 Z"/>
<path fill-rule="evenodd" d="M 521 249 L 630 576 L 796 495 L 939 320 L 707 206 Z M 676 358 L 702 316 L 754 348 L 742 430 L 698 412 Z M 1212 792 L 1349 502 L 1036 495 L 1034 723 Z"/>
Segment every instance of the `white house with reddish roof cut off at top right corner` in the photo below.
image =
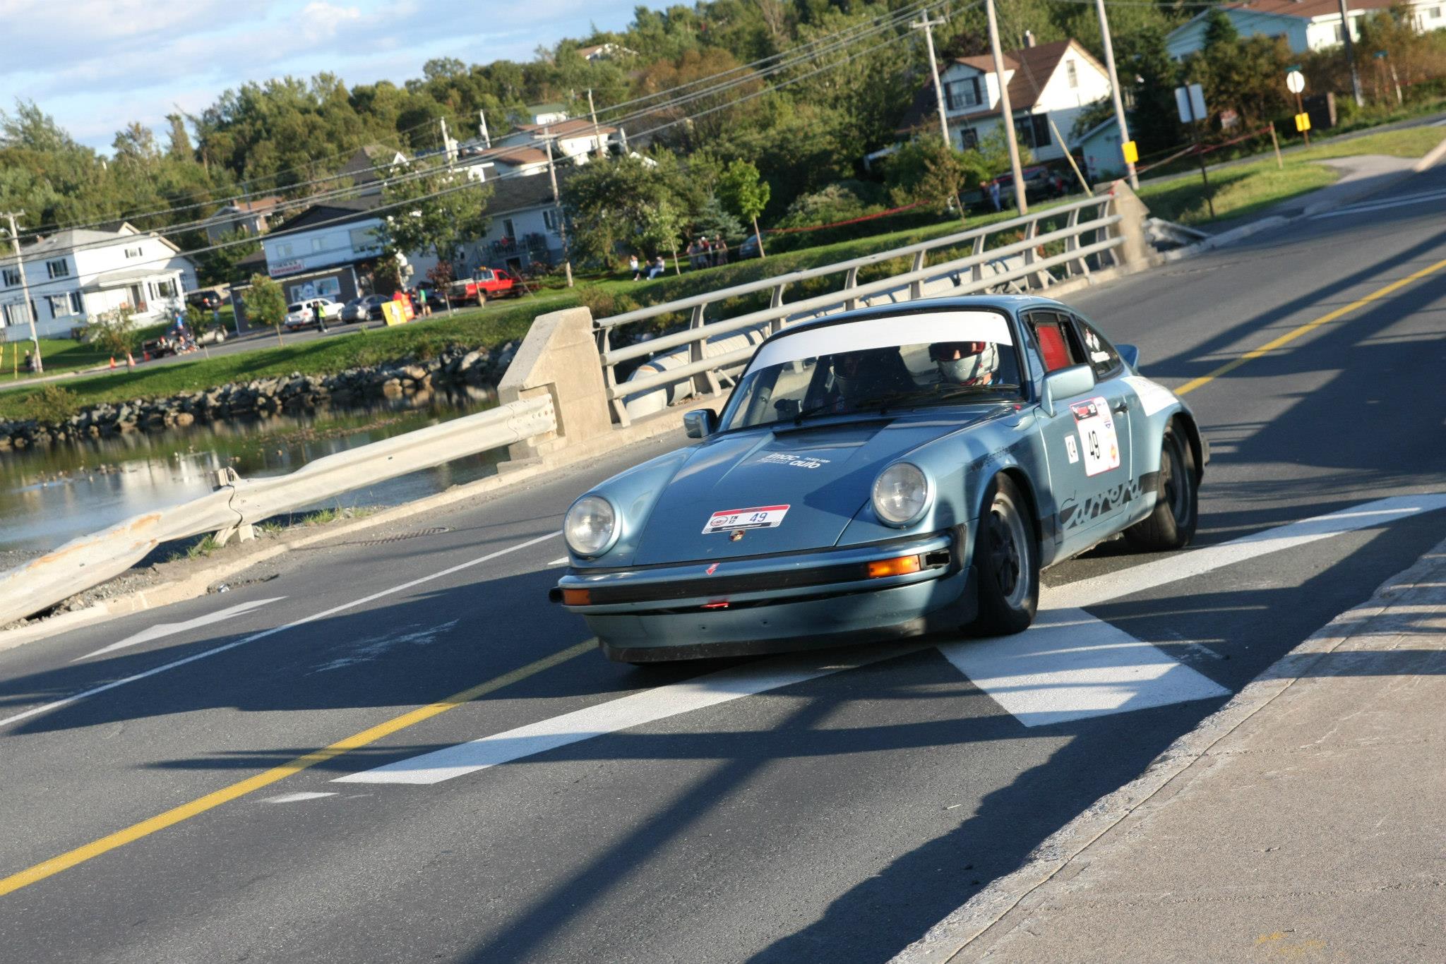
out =
<path fill-rule="evenodd" d="M 1406 0 L 1417 30 L 1446 27 L 1446 0 Z M 1361 17 L 1390 10 L 1392 0 L 1351 0 L 1351 39 L 1361 36 Z M 1231 19 L 1241 36 L 1285 38 L 1296 53 L 1320 51 L 1342 43 L 1339 0 L 1242 0 L 1218 7 Z M 1165 36 L 1165 51 L 1180 59 L 1205 46 L 1209 10 Z"/>

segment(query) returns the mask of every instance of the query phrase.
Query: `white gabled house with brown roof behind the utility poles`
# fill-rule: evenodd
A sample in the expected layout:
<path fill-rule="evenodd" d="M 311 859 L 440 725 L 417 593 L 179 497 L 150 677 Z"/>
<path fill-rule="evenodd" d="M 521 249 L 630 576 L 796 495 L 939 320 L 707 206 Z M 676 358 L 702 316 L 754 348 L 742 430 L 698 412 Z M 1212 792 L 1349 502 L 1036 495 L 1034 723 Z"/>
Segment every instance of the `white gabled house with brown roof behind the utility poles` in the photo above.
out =
<path fill-rule="evenodd" d="M 1109 97 L 1109 72 L 1077 40 L 1057 40 L 1011 51 L 1004 58 L 1004 81 L 1022 143 L 1035 160 L 1058 160 L 1066 146 L 1054 130 L 1069 137 L 1074 119 L 1095 101 Z M 940 72 L 944 114 L 956 147 L 967 149 L 999 129 L 999 82 L 993 58 L 960 56 Z M 1053 121 L 1053 129 L 1050 126 Z M 914 98 L 904 127 L 910 132 L 937 124 L 934 85 Z"/>

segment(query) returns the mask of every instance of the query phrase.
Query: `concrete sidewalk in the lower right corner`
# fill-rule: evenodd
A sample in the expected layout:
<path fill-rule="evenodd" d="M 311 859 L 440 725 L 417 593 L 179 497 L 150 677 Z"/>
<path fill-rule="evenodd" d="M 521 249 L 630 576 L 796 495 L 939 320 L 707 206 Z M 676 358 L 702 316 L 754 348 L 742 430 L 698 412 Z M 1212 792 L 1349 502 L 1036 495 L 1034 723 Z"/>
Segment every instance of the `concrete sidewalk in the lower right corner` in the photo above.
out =
<path fill-rule="evenodd" d="M 1446 542 L 1181 739 L 1113 815 L 1106 798 L 1051 838 L 1041 851 L 1073 856 L 1043 883 L 995 893 L 988 916 L 966 905 L 915 960 L 1446 961 L 1443 707 Z"/>

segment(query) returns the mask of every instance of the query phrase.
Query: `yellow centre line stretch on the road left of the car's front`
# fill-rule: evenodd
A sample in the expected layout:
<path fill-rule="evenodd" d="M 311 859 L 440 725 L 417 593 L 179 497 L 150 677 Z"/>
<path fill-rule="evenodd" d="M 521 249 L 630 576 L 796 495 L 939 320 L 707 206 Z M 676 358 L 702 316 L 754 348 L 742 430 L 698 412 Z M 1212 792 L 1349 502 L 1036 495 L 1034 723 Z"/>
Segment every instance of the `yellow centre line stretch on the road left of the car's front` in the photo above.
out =
<path fill-rule="evenodd" d="M 411 713 L 403 713 L 402 715 L 393 717 L 386 723 L 379 723 L 377 726 L 369 730 L 363 730 L 362 733 L 348 736 L 347 739 L 338 740 L 331 746 L 322 747 L 320 750 L 312 750 L 311 753 L 298 756 L 295 760 L 282 763 L 281 766 L 273 766 L 265 773 L 249 776 L 244 780 L 231 783 L 230 786 L 224 786 L 213 793 L 207 793 L 205 796 L 194 799 L 189 804 L 182 804 L 181 806 L 168 809 L 163 814 L 158 814 L 156 817 L 143 819 L 139 824 L 127 827 L 126 830 L 119 830 L 114 834 L 101 837 L 100 840 L 88 843 L 84 847 L 77 847 L 75 850 L 64 853 L 59 857 L 51 857 L 49 860 L 38 863 L 33 867 L 27 867 L 25 870 L 20 870 L 19 873 L 10 874 L 9 877 L 0 879 L 0 898 L 14 890 L 19 890 L 20 887 L 27 887 L 32 883 L 36 883 L 38 880 L 45 880 L 46 877 L 58 874 L 62 870 L 69 870 L 71 867 L 85 863 L 87 860 L 100 857 L 101 854 L 110 850 L 116 850 L 117 847 L 124 847 L 126 844 L 134 843 L 142 837 L 149 837 L 150 834 L 162 831 L 168 827 L 174 827 L 184 819 L 189 819 L 192 817 L 197 817 L 198 814 L 204 814 L 205 811 L 214 809 L 221 804 L 228 804 L 240 796 L 246 796 L 252 791 L 259 791 L 263 786 L 270 786 L 272 783 L 283 780 L 294 773 L 299 773 L 305 769 L 317 766 L 318 763 L 325 763 L 327 760 L 335 759 L 343 753 L 347 753 L 348 750 L 356 750 L 359 747 L 367 746 L 369 743 L 376 743 L 382 737 L 388 737 L 399 730 L 405 730 L 406 727 L 415 726 L 424 720 L 431 720 L 438 714 L 447 713 L 448 710 L 460 707 L 466 702 L 471 702 L 473 700 L 477 700 L 480 697 L 486 697 L 489 692 L 502 689 L 503 687 L 526 679 L 528 676 L 534 676 L 542 672 L 544 669 L 551 669 L 558 663 L 564 663 L 568 659 L 580 656 L 596 647 L 597 647 L 597 640 L 593 639 L 587 640 L 586 643 L 578 643 L 577 646 L 570 646 L 568 649 L 552 653 L 551 656 L 544 656 L 542 659 L 528 663 L 526 666 L 521 666 L 518 669 L 513 669 L 512 672 L 503 673 L 486 682 L 480 682 L 476 687 L 453 694 L 445 700 L 438 700 L 437 702 L 428 704 L 425 707 L 418 707 L 416 710 L 412 710 Z"/>

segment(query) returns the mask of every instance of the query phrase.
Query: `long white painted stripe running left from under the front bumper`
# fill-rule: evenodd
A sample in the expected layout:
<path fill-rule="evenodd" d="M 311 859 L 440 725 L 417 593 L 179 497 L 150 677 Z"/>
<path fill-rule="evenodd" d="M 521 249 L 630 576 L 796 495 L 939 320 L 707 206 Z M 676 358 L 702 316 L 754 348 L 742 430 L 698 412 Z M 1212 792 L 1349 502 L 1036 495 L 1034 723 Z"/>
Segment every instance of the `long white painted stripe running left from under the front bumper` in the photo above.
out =
<path fill-rule="evenodd" d="M 338 776 L 333 783 L 440 783 L 489 766 L 580 743 L 606 733 L 693 713 L 720 702 L 753 697 L 795 682 L 829 676 L 843 669 L 866 666 L 881 659 L 925 649 L 925 643 L 882 646 L 866 653 L 850 653 L 847 662 L 837 656 L 794 655 L 758 663 L 722 669 L 684 682 L 645 689 L 620 700 L 564 713 L 551 720 L 482 737 L 470 743 L 422 753 L 362 773 Z"/>

